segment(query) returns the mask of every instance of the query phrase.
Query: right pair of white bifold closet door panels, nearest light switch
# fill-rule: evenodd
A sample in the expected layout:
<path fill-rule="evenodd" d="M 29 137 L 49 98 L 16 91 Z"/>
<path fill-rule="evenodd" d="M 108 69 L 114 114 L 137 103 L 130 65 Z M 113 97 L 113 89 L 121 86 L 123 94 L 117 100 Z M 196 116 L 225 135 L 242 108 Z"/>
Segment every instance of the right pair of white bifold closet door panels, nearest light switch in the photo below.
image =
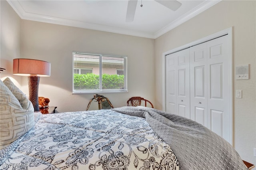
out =
<path fill-rule="evenodd" d="M 230 67 L 227 36 L 190 47 L 191 119 L 229 141 Z"/>

